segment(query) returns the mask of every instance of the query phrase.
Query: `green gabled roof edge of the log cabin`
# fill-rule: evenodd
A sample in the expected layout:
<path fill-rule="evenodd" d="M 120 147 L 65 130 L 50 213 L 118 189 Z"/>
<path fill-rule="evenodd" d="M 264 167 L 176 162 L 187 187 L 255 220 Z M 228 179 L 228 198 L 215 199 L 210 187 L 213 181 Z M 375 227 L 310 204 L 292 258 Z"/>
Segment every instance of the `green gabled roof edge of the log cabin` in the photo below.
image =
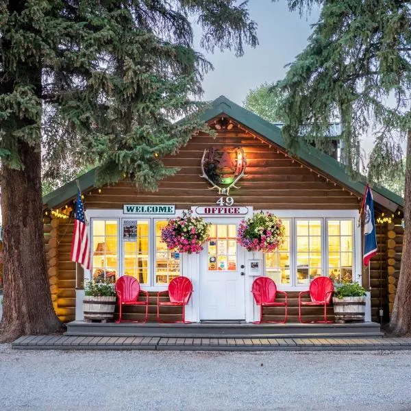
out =
<path fill-rule="evenodd" d="M 242 108 L 240 105 L 227 99 L 227 97 L 220 96 L 218 99 L 215 99 L 211 103 L 211 107 L 201 114 L 201 120 L 206 123 L 207 121 L 214 119 L 214 117 L 221 116 L 222 114 L 231 117 L 238 121 L 238 123 L 245 125 L 245 127 L 257 132 L 262 137 L 287 151 L 286 143 L 282 138 L 279 127 L 262 119 L 253 112 Z M 347 186 L 347 188 L 351 188 L 351 190 L 358 192 L 360 197 L 364 193 L 366 186 L 365 177 L 362 177 L 361 181 L 354 182 L 345 172 L 345 166 L 340 164 L 330 155 L 327 155 L 314 147 L 301 145 L 296 153 L 292 153 L 292 157 L 303 160 L 303 162 L 310 164 L 318 171 L 323 171 L 323 173 L 329 175 L 332 179 L 337 180 L 344 186 Z M 79 186 L 82 190 L 89 190 L 90 188 L 95 187 L 96 175 L 96 169 L 94 169 L 79 177 Z M 45 195 L 45 197 L 43 197 L 43 203 L 45 206 L 53 208 L 74 198 L 76 193 L 77 185 L 73 180 L 72 182 L 64 184 L 64 186 L 57 190 L 50 192 L 48 195 Z M 374 200 L 385 208 L 388 208 L 388 210 L 394 211 L 398 206 L 403 207 L 403 198 L 382 186 L 373 185 L 373 193 Z"/>

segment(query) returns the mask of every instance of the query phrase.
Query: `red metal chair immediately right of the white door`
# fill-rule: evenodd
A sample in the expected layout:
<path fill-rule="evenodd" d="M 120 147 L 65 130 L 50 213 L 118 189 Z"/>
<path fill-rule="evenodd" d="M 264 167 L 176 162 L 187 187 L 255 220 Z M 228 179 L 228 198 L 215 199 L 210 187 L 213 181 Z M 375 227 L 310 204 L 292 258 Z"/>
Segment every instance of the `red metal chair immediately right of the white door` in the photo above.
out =
<path fill-rule="evenodd" d="M 256 304 L 260 306 L 260 321 L 254 321 L 254 324 L 261 323 L 281 323 L 284 324 L 287 321 L 287 307 L 288 299 L 287 293 L 284 291 L 277 290 L 275 282 L 270 277 L 257 277 L 253 286 L 251 287 L 251 292 L 253 293 Z M 284 294 L 286 296 L 285 303 L 279 303 L 275 301 L 277 293 Z M 284 316 L 284 321 L 262 321 L 262 308 L 263 307 L 285 307 L 286 314 Z"/>

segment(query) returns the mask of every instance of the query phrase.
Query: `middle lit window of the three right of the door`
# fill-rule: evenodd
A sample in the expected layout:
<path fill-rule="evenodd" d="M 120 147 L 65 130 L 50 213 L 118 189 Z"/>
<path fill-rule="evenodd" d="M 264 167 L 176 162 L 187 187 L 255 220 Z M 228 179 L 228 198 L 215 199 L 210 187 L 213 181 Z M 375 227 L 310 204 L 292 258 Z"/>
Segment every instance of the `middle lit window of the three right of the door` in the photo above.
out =
<path fill-rule="evenodd" d="M 322 274 L 321 220 L 297 220 L 297 285 Z"/>

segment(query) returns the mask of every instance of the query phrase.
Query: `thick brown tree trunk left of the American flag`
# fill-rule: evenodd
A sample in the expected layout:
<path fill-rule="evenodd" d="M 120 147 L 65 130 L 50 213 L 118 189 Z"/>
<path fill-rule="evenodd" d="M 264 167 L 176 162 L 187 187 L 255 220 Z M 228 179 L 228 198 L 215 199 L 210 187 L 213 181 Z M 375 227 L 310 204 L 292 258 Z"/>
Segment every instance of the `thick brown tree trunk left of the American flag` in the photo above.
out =
<path fill-rule="evenodd" d="M 63 329 L 51 303 L 43 241 L 40 145 L 18 140 L 22 170 L 1 165 L 3 319 L 0 341 Z"/>

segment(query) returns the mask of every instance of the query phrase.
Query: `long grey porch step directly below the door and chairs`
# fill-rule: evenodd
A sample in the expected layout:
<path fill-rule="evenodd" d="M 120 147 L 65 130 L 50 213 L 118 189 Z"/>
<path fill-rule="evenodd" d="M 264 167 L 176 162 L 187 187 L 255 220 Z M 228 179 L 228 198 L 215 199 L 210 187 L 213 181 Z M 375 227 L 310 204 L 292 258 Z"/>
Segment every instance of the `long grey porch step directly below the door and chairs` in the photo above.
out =
<path fill-rule="evenodd" d="M 151 336 L 164 338 L 381 338 L 378 323 L 85 323 L 67 324 L 66 336 Z"/>

